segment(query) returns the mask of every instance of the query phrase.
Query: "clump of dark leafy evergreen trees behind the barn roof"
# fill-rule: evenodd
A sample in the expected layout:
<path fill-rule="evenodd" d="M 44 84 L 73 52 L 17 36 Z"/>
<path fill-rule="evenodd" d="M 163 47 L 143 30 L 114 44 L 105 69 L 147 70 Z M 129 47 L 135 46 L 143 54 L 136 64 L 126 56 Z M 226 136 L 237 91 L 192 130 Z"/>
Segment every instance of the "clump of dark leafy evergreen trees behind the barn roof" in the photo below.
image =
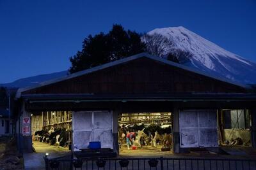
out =
<path fill-rule="evenodd" d="M 68 71 L 76 73 L 141 52 L 145 52 L 145 43 L 141 42 L 140 34 L 115 24 L 108 34 L 100 32 L 85 38 L 83 49 L 70 57 L 72 66 Z"/>

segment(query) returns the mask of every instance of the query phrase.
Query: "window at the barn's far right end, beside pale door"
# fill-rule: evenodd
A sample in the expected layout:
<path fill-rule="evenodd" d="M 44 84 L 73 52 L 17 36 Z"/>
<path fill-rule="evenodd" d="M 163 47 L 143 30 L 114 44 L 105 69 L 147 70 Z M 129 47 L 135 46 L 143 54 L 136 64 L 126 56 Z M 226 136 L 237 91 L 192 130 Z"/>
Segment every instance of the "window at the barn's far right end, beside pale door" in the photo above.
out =
<path fill-rule="evenodd" d="M 223 110 L 225 129 L 249 129 L 250 117 L 248 110 Z"/>

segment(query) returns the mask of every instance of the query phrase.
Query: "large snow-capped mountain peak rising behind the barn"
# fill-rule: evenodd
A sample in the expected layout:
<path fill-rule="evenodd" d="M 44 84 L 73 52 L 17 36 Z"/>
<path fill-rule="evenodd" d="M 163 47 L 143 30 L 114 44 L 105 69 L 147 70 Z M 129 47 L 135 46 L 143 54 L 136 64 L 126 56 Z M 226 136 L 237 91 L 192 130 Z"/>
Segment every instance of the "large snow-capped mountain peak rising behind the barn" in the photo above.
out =
<path fill-rule="evenodd" d="M 184 27 L 154 29 L 148 34 L 161 34 L 173 41 L 170 52 L 189 52 L 184 65 L 241 83 L 256 83 L 256 64 L 228 52 Z"/>

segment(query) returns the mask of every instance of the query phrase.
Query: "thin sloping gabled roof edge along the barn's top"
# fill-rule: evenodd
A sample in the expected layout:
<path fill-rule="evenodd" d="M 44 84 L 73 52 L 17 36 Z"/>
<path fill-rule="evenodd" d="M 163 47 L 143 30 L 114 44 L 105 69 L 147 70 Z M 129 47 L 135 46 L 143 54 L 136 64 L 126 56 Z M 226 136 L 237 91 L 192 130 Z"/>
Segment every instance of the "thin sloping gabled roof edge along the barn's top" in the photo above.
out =
<path fill-rule="evenodd" d="M 221 77 L 213 75 L 213 74 L 205 73 L 205 72 L 200 71 L 198 69 L 191 68 L 191 67 L 188 67 L 188 66 L 184 66 L 182 64 L 178 64 L 178 63 L 172 62 L 170 60 L 162 59 L 161 57 L 150 55 L 148 53 L 139 53 L 137 55 L 132 55 L 131 57 L 125 57 L 124 59 L 116 60 L 116 61 L 113 61 L 113 62 L 108 62 L 106 64 L 102 64 L 100 66 L 92 67 L 92 68 L 86 69 L 84 71 L 79 71 L 77 73 L 69 74 L 67 76 L 63 76 L 63 77 L 56 78 L 56 79 L 49 80 L 49 81 L 44 81 L 40 85 L 35 85 L 35 86 L 32 86 L 32 87 L 20 88 L 17 91 L 16 97 L 19 98 L 21 93 L 24 92 L 24 91 L 27 91 L 27 90 L 36 89 L 38 87 L 42 87 L 42 86 L 45 86 L 45 85 L 50 85 L 52 83 L 57 83 L 57 82 L 63 81 L 63 80 L 68 80 L 70 78 L 76 78 L 76 77 L 82 76 L 84 74 L 89 74 L 89 73 L 92 73 L 92 72 L 95 72 L 95 71 L 99 71 L 101 69 L 106 69 L 108 67 L 116 66 L 118 64 L 123 64 L 125 62 L 129 62 L 131 60 L 139 59 L 141 57 L 147 57 L 148 59 L 156 60 L 156 61 L 162 62 L 164 64 L 168 64 L 168 65 L 173 66 L 173 67 L 178 67 L 178 68 L 184 69 L 186 71 L 191 71 L 193 73 L 201 74 L 201 75 L 207 76 L 209 78 L 214 78 L 216 80 L 224 81 L 224 82 L 230 83 L 232 85 L 237 85 L 237 86 L 243 87 L 243 88 L 249 88 L 247 85 L 244 85 L 244 84 L 241 84 L 241 83 L 237 83 L 237 82 L 234 82 L 232 80 L 228 80 L 227 78 L 221 78 Z"/>

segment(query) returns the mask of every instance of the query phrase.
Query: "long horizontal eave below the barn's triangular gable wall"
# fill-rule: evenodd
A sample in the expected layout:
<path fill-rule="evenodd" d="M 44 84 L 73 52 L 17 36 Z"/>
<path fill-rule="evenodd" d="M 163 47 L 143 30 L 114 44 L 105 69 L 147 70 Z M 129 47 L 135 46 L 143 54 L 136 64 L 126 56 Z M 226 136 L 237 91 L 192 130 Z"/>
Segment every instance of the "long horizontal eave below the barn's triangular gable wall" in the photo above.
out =
<path fill-rule="evenodd" d="M 94 95 L 94 94 L 61 94 L 61 95 L 22 95 L 22 98 L 26 100 L 94 100 L 94 101 L 123 101 L 123 100 L 246 100 L 246 101 L 256 101 L 256 94 L 148 94 L 147 96 L 143 94 L 139 95 Z"/>

